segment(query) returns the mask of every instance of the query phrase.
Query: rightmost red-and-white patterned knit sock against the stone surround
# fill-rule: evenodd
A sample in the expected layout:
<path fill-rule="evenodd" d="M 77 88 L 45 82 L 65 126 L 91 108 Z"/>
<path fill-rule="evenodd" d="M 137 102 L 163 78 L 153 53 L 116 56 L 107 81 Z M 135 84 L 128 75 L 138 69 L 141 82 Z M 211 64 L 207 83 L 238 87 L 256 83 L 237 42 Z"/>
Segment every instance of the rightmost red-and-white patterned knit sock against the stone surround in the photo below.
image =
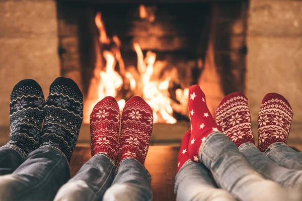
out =
<path fill-rule="evenodd" d="M 258 148 L 265 152 L 275 142 L 286 144 L 293 111 L 282 95 L 268 93 L 264 96 L 258 115 Z"/>

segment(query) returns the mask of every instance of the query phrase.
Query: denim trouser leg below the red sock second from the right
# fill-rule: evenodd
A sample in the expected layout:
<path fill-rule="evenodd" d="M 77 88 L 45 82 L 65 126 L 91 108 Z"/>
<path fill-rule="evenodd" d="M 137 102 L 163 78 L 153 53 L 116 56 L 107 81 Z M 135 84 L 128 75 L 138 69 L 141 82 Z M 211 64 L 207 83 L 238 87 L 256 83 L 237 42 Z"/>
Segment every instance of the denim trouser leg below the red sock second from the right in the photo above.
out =
<path fill-rule="evenodd" d="M 284 187 L 301 187 L 302 171 L 279 166 L 269 159 L 252 143 L 244 143 L 239 151 L 247 158 L 250 165 L 265 178 L 276 181 Z"/>

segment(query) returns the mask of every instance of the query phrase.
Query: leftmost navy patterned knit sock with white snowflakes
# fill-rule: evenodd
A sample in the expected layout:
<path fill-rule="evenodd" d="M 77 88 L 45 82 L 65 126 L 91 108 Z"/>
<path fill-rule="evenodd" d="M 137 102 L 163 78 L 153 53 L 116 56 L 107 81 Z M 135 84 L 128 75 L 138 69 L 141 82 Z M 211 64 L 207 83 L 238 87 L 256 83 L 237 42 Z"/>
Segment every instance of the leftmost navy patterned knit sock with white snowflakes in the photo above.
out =
<path fill-rule="evenodd" d="M 13 88 L 10 103 L 11 133 L 5 146 L 15 148 L 23 158 L 38 147 L 43 103 L 42 88 L 35 80 L 24 79 Z"/>

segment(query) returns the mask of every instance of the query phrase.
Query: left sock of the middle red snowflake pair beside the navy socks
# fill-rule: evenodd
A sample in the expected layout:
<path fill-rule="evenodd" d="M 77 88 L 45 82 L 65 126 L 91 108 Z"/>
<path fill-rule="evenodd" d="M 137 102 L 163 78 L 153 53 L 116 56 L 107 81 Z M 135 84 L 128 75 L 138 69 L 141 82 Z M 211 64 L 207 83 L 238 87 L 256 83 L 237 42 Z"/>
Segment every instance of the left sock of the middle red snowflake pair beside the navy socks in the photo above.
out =
<path fill-rule="evenodd" d="M 117 158 L 119 108 L 116 99 L 103 98 L 90 115 L 91 155 L 107 154 L 114 162 Z"/>

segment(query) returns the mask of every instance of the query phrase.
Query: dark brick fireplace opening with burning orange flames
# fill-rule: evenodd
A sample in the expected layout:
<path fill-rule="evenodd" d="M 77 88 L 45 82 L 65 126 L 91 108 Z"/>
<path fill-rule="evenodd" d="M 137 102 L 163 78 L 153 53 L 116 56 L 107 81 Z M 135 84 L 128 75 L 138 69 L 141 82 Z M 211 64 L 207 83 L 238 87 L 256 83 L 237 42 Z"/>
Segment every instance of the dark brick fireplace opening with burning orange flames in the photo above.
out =
<path fill-rule="evenodd" d="M 59 1 L 61 74 L 84 92 L 84 124 L 107 95 L 140 95 L 155 123 L 189 121 L 188 88 L 210 112 L 245 89 L 248 1 L 102 4 Z"/>

